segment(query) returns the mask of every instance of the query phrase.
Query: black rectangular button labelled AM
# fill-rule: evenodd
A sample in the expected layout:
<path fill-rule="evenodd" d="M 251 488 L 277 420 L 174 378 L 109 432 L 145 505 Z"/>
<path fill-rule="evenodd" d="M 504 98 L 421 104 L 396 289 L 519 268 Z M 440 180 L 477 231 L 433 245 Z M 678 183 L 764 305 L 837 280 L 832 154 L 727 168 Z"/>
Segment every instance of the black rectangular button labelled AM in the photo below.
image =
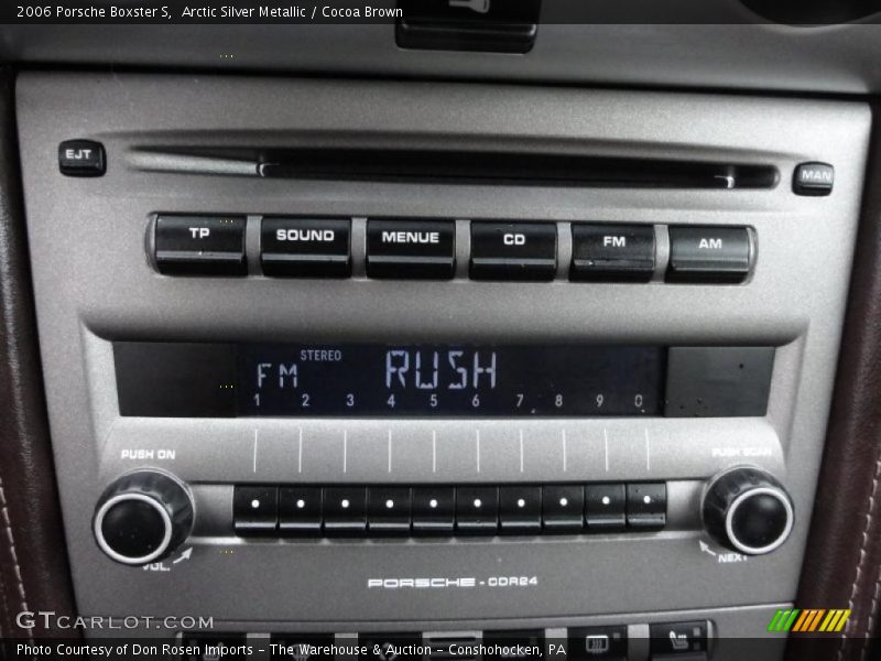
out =
<path fill-rule="evenodd" d="M 670 282 L 738 283 L 750 274 L 746 227 L 671 227 Z"/>

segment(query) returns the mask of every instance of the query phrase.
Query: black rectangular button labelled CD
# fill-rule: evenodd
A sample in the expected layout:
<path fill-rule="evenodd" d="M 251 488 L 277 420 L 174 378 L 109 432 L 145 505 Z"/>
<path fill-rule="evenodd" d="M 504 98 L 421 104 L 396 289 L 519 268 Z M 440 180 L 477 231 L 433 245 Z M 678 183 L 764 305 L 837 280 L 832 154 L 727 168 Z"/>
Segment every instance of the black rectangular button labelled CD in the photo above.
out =
<path fill-rule="evenodd" d="M 553 223 L 471 223 L 471 278 L 550 281 L 557 271 Z"/>

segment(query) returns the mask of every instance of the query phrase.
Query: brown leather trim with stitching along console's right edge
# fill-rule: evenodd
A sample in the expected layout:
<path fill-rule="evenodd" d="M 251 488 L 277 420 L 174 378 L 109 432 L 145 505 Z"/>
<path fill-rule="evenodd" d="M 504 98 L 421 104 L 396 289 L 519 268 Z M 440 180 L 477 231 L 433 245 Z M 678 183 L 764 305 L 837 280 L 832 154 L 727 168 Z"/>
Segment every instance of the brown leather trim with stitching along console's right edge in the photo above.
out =
<path fill-rule="evenodd" d="M 793 638 L 787 659 L 870 659 L 881 604 L 881 105 L 817 498 L 796 606 L 852 610 L 836 643 Z M 874 650 L 877 652 L 877 650 Z"/>

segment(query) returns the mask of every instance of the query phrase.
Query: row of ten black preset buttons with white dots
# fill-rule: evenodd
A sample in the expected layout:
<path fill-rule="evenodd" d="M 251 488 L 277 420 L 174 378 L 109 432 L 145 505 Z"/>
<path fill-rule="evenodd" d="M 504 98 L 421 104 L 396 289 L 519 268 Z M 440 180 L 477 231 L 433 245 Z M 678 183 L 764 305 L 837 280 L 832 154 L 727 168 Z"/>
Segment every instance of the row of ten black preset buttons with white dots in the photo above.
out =
<path fill-rule="evenodd" d="M 237 486 L 240 535 L 539 534 L 660 530 L 664 483 L 460 486 Z"/>

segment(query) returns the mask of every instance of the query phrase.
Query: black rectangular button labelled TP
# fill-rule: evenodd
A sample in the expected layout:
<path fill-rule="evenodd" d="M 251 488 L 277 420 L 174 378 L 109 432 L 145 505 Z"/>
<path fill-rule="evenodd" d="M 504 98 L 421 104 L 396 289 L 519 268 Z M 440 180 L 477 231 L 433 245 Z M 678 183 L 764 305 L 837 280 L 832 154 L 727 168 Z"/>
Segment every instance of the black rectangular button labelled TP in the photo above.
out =
<path fill-rule="evenodd" d="M 159 216 L 156 268 L 174 275 L 246 275 L 244 218 Z"/>

